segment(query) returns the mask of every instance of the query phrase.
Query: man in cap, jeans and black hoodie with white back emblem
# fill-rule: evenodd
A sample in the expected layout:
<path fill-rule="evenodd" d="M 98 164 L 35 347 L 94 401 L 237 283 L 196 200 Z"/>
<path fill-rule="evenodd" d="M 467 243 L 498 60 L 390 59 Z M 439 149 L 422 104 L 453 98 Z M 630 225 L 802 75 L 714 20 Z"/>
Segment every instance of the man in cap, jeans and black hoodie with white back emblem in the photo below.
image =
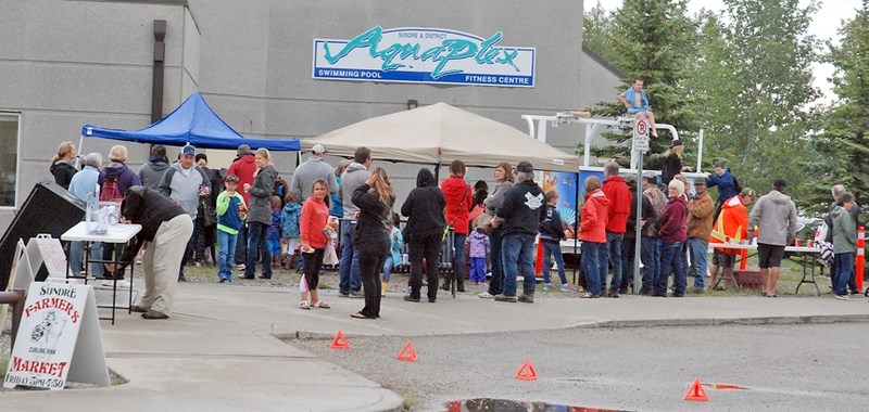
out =
<path fill-rule="evenodd" d="M 498 301 L 534 301 L 534 237 L 540 222 L 546 218 L 546 202 L 543 190 L 534 183 L 534 167 L 528 162 L 516 165 L 518 183 L 507 192 L 504 202 L 492 219 L 492 226 L 502 226 L 504 240 L 504 292 L 495 296 Z M 522 296 L 516 297 L 516 276 L 525 278 Z"/>

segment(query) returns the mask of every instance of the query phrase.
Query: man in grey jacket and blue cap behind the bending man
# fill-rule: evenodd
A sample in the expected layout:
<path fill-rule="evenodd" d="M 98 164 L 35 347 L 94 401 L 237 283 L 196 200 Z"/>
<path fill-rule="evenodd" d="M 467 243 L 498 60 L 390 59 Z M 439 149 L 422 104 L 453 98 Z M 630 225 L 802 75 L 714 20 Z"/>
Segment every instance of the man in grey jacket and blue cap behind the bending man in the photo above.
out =
<path fill-rule="evenodd" d="M 181 147 L 181 157 L 172 167 L 166 169 L 163 178 L 160 181 L 159 190 L 164 196 L 168 197 L 175 204 L 181 207 L 191 221 L 197 220 L 199 210 L 199 197 L 207 196 L 211 193 L 209 188 L 209 177 L 205 171 L 199 166 L 193 164 L 196 159 L 197 149 L 192 144 L 187 144 Z M 187 242 L 187 249 L 185 250 L 185 258 L 181 259 L 181 266 L 178 268 L 178 281 L 186 282 L 184 276 L 184 263 L 187 257 L 193 249 L 192 233 Z"/>

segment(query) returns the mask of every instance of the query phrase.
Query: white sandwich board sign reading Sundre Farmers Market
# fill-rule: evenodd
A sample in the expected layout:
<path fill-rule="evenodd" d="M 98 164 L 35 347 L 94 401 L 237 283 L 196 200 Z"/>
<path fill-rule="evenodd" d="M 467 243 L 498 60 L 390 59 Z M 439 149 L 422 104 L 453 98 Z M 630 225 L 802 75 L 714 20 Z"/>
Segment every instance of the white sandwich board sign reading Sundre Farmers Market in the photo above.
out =
<path fill-rule="evenodd" d="M 109 386 L 93 288 L 33 282 L 3 387 L 63 389 L 67 379 Z"/>

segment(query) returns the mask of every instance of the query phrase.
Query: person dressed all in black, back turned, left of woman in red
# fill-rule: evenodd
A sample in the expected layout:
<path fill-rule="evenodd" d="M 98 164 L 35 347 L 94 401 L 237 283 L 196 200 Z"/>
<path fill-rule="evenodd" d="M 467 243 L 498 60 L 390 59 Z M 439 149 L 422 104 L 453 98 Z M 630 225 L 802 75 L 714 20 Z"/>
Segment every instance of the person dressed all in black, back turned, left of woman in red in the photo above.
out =
<path fill-rule="evenodd" d="M 426 259 L 426 280 L 428 281 L 428 301 L 438 297 L 438 255 L 441 249 L 443 228 L 446 221 L 443 208 L 446 201 L 434 181 L 434 175 L 427 168 L 416 175 L 416 189 L 401 205 L 401 214 L 407 217 L 407 226 L 402 234 L 407 243 L 411 260 L 411 294 L 404 300 L 419 301 L 423 287 L 423 258 Z"/>

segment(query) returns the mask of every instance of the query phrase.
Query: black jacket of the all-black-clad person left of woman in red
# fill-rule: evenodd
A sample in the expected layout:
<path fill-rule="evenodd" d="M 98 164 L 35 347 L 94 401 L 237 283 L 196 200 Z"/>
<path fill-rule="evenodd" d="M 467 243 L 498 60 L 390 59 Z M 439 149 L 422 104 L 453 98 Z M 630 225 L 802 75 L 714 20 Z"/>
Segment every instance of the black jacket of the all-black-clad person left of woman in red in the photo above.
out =
<path fill-rule="evenodd" d="M 434 175 L 427 168 L 419 169 L 416 189 L 411 191 L 401 205 L 401 214 L 407 217 L 407 224 L 402 231 L 404 241 L 414 243 L 427 236 L 443 235 L 443 227 L 446 226 L 444 207 L 446 199 L 434 182 Z"/>

